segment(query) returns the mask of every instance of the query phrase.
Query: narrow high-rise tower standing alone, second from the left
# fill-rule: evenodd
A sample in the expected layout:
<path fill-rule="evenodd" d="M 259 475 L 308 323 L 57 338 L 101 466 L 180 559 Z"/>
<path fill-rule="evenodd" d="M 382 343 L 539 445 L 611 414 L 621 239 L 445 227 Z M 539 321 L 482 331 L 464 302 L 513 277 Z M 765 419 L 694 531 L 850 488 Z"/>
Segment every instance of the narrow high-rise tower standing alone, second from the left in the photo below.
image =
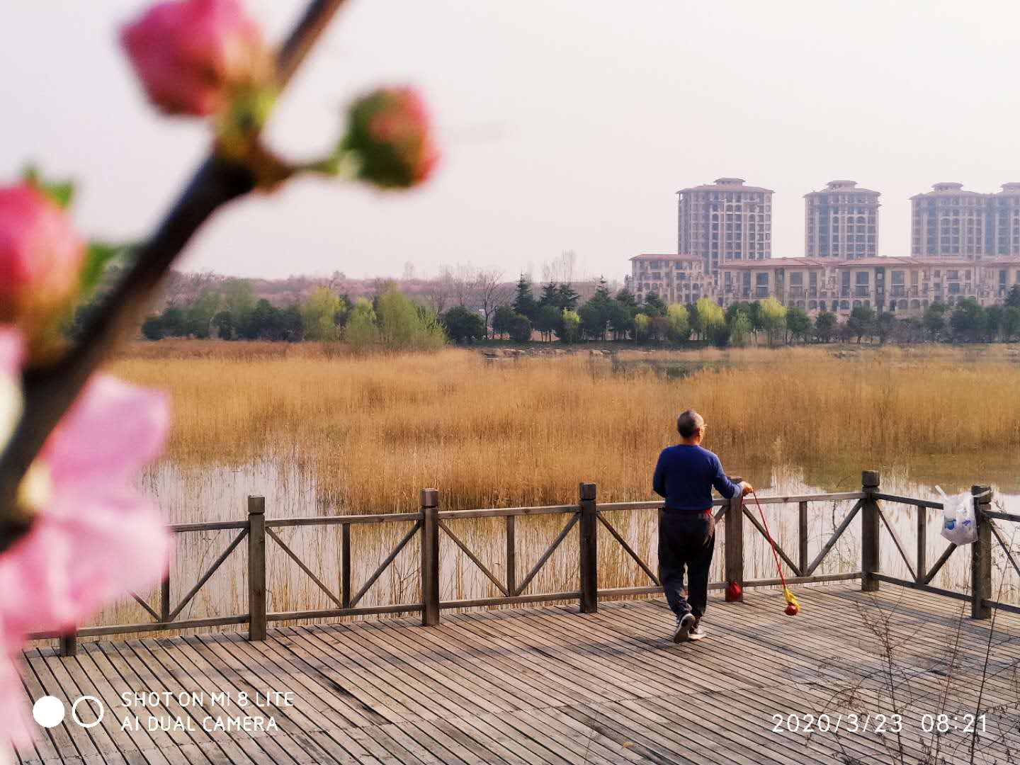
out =
<path fill-rule="evenodd" d="M 855 181 L 829 181 L 804 195 L 804 254 L 859 260 L 878 255 L 878 195 Z"/>

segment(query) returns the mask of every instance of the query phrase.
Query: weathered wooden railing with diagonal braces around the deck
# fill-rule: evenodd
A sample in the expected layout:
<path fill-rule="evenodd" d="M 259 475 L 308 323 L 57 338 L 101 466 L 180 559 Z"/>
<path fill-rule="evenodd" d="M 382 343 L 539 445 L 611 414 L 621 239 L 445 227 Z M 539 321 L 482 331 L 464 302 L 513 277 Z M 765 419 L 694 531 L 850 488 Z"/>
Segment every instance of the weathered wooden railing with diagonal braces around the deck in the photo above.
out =
<path fill-rule="evenodd" d="M 733 477 L 733 480 L 740 480 Z M 860 579 L 865 592 L 876 591 L 879 582 L 885 581 L 903 586 L 923 590 L 925 592 L 944 595 L 950 598 L 968 600 L 972 603 L 971 615 L 974 618 L 987 618 L 991 608 L 1003 608 L 1020 613 L 1017 606 L 999 603 L 991 599 L 991 540 L 994 539 L 1003 547 L 1006 557 L 1013 568 L 1020 574 L 1020 565 L 1013 556 L 1009 545 L 1004 540 L 994 520 L 1020 521 L 1020 516 L 1009 513 L 992 512 L 990 510 L 990 493 L 986 487 L 974 487 L 975 508 L 978 517 L 978 541 L 971 546 L 971 592 L 959 593 L 931 585 L 931 580 L 949 560 L 956 550 L 956 545 L 949 545 L 931 568 L 927 567 L 927 517 L 929 509 L 941 509 L 938 502 L 899 497 L 883 494 L 879 491 L 879 475 L 877 471 L 865 470 L 862 473 L 860 492 L 843 492 L 811 494 L 801 496 L 760 497 L 762 505 L 798 506 L 798 550 L 795 555 L 776 546 L 776 553 L 789 568 L 792 576 L 786 577 L 789 583 L 822 582 L 845 579 Z M 809 549 L 809 506 L 811 503 L 854 501 L 854 505 L 835 525 L 831 536 L 811 555 Z M 911 556 L 896 531 L 888 516 L 882 510 L 879 502 L 902 504 L 917 508 L 917 546 L 913 562 Z M 732 500 L 716 500 L 713 506 L 715 520 L 723 521 L 724 543 L 724 579 L 712 582 L 710 589 L 718 590 L 727 582 L 738 582 L 743 589 L 754 586 L 769 586 L 780 582 L 778 578 L 748 579 L 745 577 L 745 524 L 750 521 L 752 527 L 763 537 L 765 528 L 751 509 L 745 506 L 741 497 Z M 622 596 L 654 595 L 662 592 L 662 583 L 656 574 L 655 566 L 644 560 L 612 524 L 606 513 L 614 511 L 661 510 L 660 502 L 612 502 L 599 503 L 595 483 L 579 486 L 576 504 L 549 505 L 541 507 L 509 507 L 486 508 L 476 510 L 440 510 L 439 492 L 436 489 L 423 489 L 420 493 L 420 507 L 411 513 L 381 513 L 375 515 L 338 515 L 326 517 L 273 518 L 265 517 L 265 501 L 262 497 L 248 498 L 248 518 L 240 521 L 216 521 L 207 523 L 182 523 L 170 526 L 174 534 L 186 534 L 197 531 L 237 530 L 237 534 L 226 545 L 213 563 L 198 577 L 196 583 L 184 598 L 171 608 L 170 581 L 167 577 L 159 589 L 159 605 L 154 607 L 138 594 L 133 594 L 144 611 L 151 616 L 151 621 L 129 624 L 103 624 L 82 627 L 69 633 L 58 635 L 54 633 L 36 633 L 32 639 L 58 638 L 63 655 L 73 655 L 76 649 L 78 636 L 99 636 L 134 632 L 160 631 L 168 629 L 186 629 L 196 627 L 220 626 L 225 624 L 247 623 L 249 639 L 262 641 L 266 638 L 269 622 L 315 619 L 325 617 L 355 616 L 387 613 L 421 613 L 423 625 L 435 625 L 440 622 L 440 613 L 445 609 L 468 608 L 479 606 L 499 606 L 506 604 L 523 604 L 537 602 L 554 602 L 577 600 L 582 613 L 593 613 L 598 610 L 600 598 L 615 598 Z M 837 573 L 819 574 L 821 563 L 831 553 L 836 543 L 850 527 L 855 517 L 861 515 L 861 565 L 860 570 Z M 519 516 L 557 515 L 565 516 L 560 531 L 549 543 L 538 561 L 519 580 L 517 578 L 517 545 L 516 519 Z M 464 518 L 502 517 L 506 529 L 506 549 L 504 561 L 504 576 L 495 574 L 478 558 L 475 552 L 454 531 L 450 521 Z M 386 555 L 376 568 L 364 582 L 355 590 L 351 575 L 351 527 L 361 524 L 384 524 L 408 522 L 412 525 L 396 546 Z M 880 524 L 888 530 L 894 545 L 906 563 L 910 579 L 898 578 L 880 570 Z M 341 526 L 341 555 L 339 586 L 335 592 L 301 560 L 277 533 L 276 529 L 290 526 Z M 577 590 L 554 593 L 528 593 L 543 567 L 560 547 L 575 525 L 579 526 L 577 553 Z M 600 539 L 600 527 L 608 534 Z M 363 606 L 361 601 L 369 589 L 386 572 L 407 545 L 420 534 L 420 592 L 421 600 L 414 603 L 384 604 Z M 440 598 L 440 540 L 446 536 L 449 540 L 478 568 L 480 573 L 493 583 L 500 593 L 497 597 L 477 598 L 471 600 L 447 600 Z M 242 542 L 248 541 L 248 611 L 227 616 L 211 616 L 194 619 L 180 619 L 185 608 L 193 601 L 199 591 L 209 581 L 224 561 L 238 549 Z M 330 608 L 305 611 L 267 611 L 266 598 L 266 547 L 270 542 L 280 548 L 283 553 L 293 560 L 305 575 L 334 604 Z M 631 559 L 649 584 L 627 588 L 599 586 L 599 548 L 600 543 L 608 542 L 619 545 L 626 556 Z"/>

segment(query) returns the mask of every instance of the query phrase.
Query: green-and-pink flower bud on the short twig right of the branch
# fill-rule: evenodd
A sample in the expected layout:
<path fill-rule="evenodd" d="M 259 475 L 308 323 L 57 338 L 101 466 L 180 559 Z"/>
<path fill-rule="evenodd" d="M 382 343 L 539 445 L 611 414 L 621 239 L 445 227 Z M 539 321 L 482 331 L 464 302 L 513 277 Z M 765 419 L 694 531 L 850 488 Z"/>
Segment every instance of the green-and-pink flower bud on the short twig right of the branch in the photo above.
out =
<path fill-rule="evenodd" d="M 428 113 L 410 88 L 385 88 L 350 108 L 342 152 L 357 157 L 358 177 L 384 188 L 420 184 L 439 160 Z"/>

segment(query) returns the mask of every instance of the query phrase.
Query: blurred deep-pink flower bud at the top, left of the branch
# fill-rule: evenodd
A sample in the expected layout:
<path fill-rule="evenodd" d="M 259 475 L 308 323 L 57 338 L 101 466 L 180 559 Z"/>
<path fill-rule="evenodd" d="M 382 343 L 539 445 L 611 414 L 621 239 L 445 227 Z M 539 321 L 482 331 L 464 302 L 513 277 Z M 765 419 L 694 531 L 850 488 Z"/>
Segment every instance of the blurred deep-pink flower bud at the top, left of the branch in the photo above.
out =
<path fill-rule="evenodd" d="M 262 34 L 239 0 L 159 3 L 125 26 L 120 41 L 149 100 L 170 114 L 213 114 L 272 71 Z"/>

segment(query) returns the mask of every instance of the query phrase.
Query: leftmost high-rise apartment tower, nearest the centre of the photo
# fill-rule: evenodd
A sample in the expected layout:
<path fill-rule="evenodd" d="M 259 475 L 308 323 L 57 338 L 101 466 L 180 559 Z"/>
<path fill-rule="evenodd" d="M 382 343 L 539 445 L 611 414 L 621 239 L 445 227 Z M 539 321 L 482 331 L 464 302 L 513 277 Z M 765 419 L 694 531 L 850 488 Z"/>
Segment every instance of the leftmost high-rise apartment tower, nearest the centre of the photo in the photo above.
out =
<path fill-rule="evenodd" d="M 705 273 L 718 278 L 732 260 L 772 257 L 772 191 L 745 186 L 744 178 L 680 189 L 679 254 L 696 255 Z"/>

